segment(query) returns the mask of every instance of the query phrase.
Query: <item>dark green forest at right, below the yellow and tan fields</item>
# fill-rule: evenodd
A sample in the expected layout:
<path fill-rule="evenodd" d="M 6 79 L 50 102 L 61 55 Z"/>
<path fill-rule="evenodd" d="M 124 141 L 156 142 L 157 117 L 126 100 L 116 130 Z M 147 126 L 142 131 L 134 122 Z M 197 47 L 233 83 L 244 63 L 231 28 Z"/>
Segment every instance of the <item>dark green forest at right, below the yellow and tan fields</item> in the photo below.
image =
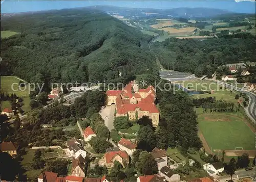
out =
<path fill-rule="evenodd" d="M 151 45 L 165 69 L 211 75 L 224 64 L 255 61 L 255 36 L 241 33 L 204 41 L 169 38 Z"/>

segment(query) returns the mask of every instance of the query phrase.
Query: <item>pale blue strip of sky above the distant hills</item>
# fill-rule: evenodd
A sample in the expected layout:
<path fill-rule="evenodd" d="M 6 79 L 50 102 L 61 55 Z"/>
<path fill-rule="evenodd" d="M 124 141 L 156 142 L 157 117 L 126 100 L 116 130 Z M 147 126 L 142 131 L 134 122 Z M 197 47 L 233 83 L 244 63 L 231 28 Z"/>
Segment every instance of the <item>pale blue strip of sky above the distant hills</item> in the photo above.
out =
<path fill-rule="evenodd" d="M 28 11 L 42 11 L 64 8 L 78 8 L 95 5 L 112 5 L 131 8 L 216 8 L 238 13 L 255 13 L 255 1 L 227 0 L 227 1 L 35 1 L 35 0 L 1 0 L 1 13 L 19 13 Z"/>

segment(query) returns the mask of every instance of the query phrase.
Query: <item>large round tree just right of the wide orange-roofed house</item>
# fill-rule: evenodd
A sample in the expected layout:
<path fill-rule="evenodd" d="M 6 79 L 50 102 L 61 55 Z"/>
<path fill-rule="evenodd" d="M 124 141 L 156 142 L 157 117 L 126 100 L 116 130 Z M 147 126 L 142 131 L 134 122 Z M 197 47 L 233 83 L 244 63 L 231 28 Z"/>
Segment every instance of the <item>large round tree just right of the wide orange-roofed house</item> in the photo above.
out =
<path fill-rule="evenodd" d="M 137 170 L 143 175 L 157 174 L 157 162 L 152 154 L 142 151 L 139 155 Z"/>

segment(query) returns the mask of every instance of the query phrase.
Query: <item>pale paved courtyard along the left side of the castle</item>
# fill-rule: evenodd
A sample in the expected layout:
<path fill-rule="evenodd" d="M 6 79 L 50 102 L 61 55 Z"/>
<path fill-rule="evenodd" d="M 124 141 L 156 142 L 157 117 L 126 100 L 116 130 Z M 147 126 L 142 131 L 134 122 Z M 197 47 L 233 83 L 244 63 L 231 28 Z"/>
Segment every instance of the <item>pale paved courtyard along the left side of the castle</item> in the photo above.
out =
<path fill-rule="evenodd" d="M 99 114 L 101 115 L 102 119 L 104 119 L 106 127 L 114 129 L 113 122 L 114 122 L 114 114 L 115 114 L 116 105 L 106 106 L 102 109 Z"/>

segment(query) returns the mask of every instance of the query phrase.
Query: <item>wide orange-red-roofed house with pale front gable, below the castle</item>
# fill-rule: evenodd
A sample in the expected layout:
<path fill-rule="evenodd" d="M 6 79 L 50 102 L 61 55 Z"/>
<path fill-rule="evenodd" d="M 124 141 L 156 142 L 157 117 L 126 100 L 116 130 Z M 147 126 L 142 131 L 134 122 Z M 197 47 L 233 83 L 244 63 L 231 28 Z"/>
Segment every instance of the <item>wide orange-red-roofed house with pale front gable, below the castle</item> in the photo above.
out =
<path fill-rule="evenodd" d="M 115 161 L 118 161 L 122 166 L 126 166 L 129 163 L 129 155 L 126 151 L 110 151 L 104 154 L 106 167 L 112 168 Z"/>

